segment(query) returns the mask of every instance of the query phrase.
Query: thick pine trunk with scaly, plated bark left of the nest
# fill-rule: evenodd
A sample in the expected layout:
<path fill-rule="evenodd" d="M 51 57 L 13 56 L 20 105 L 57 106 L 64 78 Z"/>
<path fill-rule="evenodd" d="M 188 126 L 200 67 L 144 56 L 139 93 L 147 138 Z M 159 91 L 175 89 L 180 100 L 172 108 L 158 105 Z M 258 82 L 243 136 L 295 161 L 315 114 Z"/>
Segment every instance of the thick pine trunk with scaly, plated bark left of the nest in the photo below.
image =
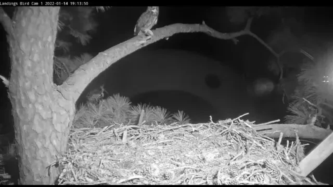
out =
<path fill-rule="evenodd" d="M 9 33 L 9 97 L 14 117 L 21 184 L 53 184 L 48 166 L 66 151 L 75 101 L 53 84 L 59 7 L 18 7 Z"/>

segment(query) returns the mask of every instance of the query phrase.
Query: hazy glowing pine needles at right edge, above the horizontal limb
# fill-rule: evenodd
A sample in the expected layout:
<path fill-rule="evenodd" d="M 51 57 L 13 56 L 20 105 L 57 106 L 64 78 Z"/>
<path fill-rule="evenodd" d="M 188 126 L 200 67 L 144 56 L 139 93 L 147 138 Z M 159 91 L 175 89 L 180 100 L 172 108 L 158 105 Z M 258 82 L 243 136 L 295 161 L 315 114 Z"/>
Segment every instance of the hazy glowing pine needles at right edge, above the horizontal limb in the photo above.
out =
<path fill-rule="evenodd" d="M 287 123 L 333 124 L 333 49 L 314 61 L 306 62 L 297 75 L 298 87 L 288 106 Z"/>

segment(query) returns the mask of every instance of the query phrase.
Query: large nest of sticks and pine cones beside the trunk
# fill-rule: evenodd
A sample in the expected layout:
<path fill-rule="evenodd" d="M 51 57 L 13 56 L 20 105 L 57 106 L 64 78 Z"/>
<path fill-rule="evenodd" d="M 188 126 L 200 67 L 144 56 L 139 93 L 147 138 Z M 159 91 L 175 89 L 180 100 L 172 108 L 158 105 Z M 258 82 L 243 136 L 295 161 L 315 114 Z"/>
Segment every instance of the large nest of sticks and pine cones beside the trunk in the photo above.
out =
<path fill-rule="evenodd" d="M 252 126 L 238 117 L 71 129 L 58 184 L 316 184 L 296 172 L 299 141 L 282 146 Z"/>

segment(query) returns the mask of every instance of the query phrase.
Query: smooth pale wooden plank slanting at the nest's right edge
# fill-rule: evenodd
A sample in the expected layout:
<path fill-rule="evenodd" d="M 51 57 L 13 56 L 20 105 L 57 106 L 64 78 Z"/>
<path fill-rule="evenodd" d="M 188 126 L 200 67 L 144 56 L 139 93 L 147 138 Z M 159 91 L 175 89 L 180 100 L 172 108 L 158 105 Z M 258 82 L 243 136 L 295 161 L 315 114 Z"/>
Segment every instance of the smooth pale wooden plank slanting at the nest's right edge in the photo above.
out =
<path fill-rule="evenodd" d="M 300 174 L 306 177 L 333 152 L 333 133 L 328 135 L 300 163 Z"/>

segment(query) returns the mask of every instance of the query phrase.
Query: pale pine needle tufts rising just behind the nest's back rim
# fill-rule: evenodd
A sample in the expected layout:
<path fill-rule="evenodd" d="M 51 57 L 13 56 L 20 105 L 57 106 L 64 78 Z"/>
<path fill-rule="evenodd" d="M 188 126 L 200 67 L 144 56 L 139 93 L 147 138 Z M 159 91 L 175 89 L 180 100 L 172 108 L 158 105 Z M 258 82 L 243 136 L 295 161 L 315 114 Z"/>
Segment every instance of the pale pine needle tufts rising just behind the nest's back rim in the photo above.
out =
<path fill-rule="evenodd" d="M 103 89 L 101 89 L 103 93 Z M 114 94 L 106 99 L 100 94 L 91 94 L 88 102 L 77 111 L 73 128 L 104 127 L 110 125 L 141 125 L 139 119 L 143 112 L 142 124 L 162 125 L 177 122 L 190 123 L 190 118 L 183 111 L 171 114 L 166 108 L 139 103 L 132 105 L 128 97 Z M 96 96 L 96 95 L 99 95 Z"/>

